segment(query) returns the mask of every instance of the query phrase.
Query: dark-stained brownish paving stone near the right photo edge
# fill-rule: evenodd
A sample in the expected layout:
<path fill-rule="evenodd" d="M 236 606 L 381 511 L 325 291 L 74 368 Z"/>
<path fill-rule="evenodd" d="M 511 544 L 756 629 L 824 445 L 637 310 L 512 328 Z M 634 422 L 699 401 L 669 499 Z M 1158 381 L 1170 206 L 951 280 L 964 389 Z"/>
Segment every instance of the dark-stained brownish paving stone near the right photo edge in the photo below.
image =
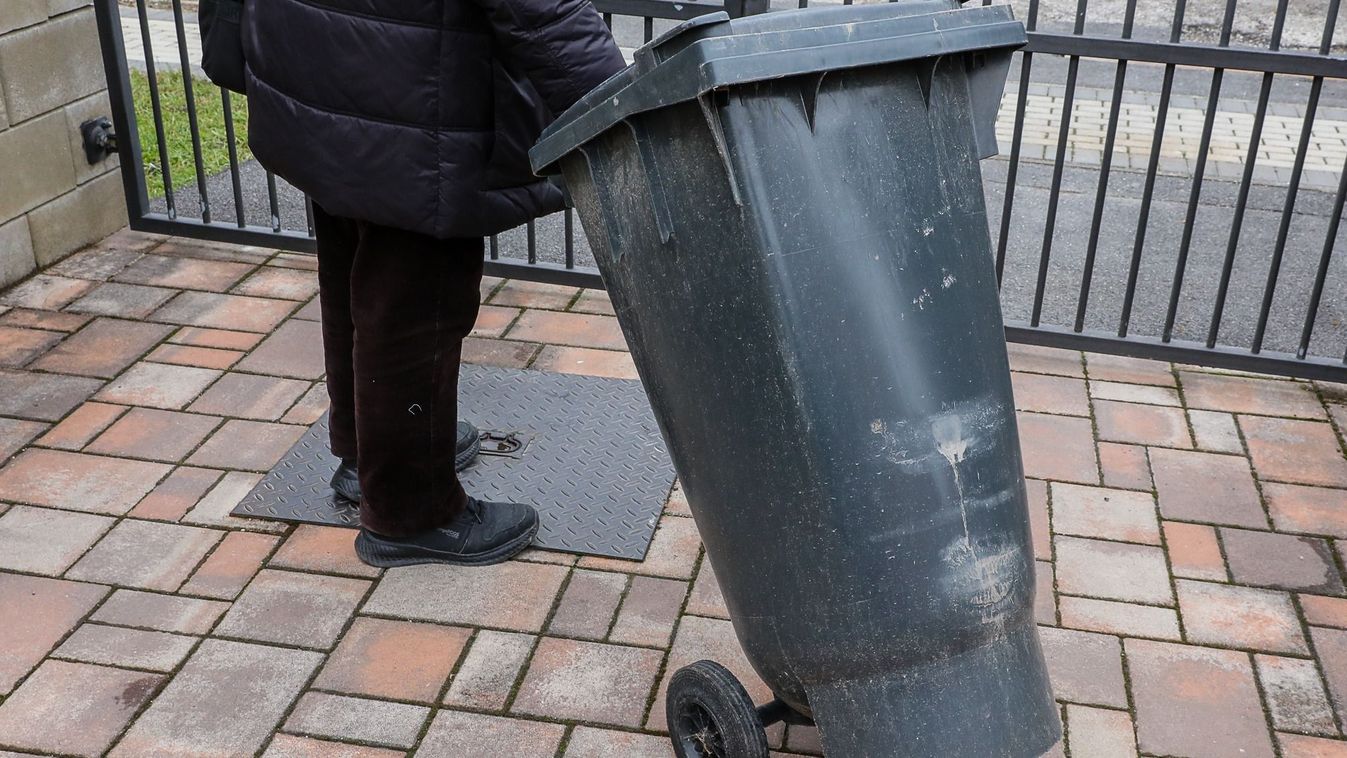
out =
<path fill-rule="evenodd" d="M 1301 590 L 1319 595 L 1342 595 L 1328 543 L 1315 537 L 1222 529 L 1230 574 L 1241 584 Z"/>

